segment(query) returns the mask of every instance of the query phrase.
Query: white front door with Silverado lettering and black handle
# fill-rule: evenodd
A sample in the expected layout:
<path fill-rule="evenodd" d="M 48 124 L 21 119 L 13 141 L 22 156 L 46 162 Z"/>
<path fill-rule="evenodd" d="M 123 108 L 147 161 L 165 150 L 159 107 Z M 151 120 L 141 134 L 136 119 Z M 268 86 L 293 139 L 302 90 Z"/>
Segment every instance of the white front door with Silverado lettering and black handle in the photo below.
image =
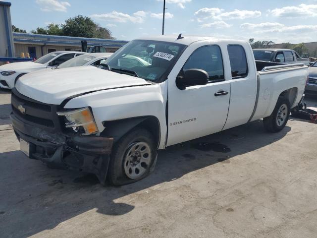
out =
<path fill-rule="evenodd" d="M 222 50 L 226 52 L 226 48 Z M 209 74 L 206 85 L 177 88 L 168 79 L 168 136 L 166 146 L 221 131 L 228 115 L 230 83 L 225 80 L 223 56 L 218 45 L 196 49 L 178 75 L 190 68 Z"/>

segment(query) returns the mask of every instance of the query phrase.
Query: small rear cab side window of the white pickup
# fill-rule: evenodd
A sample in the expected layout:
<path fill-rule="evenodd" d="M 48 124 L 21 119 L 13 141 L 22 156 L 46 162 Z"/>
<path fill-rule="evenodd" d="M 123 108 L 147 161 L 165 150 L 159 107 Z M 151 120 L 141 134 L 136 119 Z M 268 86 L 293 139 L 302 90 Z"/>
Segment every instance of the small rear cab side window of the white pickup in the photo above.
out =
<path fill-rule="evenodd" d="M 229 45 L 227 47 L 232 78 L 244 78 L 248 75 L 248 62 L 246 52 L 240 45 Z"/>

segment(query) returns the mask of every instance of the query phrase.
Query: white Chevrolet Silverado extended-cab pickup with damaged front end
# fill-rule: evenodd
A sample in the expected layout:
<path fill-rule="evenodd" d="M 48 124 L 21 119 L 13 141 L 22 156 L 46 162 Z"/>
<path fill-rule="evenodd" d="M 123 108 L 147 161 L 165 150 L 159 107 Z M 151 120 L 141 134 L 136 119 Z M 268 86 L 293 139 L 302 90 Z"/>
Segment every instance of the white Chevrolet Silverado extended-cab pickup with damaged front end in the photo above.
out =
<path fill-rule="evenodd" d="M 22 152 L 127 184 L 153 171 L 157 149 L 262 118 L 280 131 L 308 76 L 304 64 L 257 72 L 245 41 L 181 35 L 133 40 L 106 67 L 18 80 L 11 119 Z"/>

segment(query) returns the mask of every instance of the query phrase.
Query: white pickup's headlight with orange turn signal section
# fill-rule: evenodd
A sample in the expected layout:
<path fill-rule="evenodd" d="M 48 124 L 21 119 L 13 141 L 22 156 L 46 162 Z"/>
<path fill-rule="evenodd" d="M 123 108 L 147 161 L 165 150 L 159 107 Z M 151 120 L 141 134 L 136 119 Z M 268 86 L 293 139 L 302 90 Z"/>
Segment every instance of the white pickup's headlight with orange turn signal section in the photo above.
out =
<path fill-rule="evenodd" d="M 85 130 L 84 135 L 90 135 L 98 132 L 96 122 L 89 108 L 82 108 L 68 112 L 57 112 L 58 116 L 65 116 L 68 122 L 65 127 L 82 127 Z"/>

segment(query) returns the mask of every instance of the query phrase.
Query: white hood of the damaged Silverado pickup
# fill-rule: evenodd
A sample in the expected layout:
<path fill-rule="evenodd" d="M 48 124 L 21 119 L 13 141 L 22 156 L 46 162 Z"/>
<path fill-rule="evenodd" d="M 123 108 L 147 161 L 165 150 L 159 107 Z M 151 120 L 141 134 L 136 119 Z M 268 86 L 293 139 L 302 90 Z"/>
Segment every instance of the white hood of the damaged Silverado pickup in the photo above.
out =
<path fill-rule="evenodd" d="M 17 91 L 39 102 L 59 105 L 68 97 L 104 89 L 150 85 L 142 78 L 94 66 L 40 70 L 23 75 Z"/>

